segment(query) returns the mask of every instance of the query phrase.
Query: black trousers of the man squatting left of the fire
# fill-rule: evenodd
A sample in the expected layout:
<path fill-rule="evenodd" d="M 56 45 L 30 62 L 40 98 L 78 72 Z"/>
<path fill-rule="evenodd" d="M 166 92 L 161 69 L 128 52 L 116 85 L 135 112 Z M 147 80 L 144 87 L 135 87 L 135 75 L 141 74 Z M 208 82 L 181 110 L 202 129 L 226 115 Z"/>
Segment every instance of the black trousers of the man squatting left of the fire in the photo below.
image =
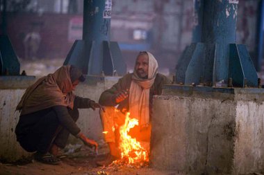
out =
<path fill-rule="evenodd" d="M 76 121 L 78 109 L 68 109 Z M 51 108 L 20 116 L 15 129 L 17 141 L 28 152 L 47 153 L 52 144 L 63 148 L 67 143 L 69 131 L 60 126 L 56 112 Z"/>

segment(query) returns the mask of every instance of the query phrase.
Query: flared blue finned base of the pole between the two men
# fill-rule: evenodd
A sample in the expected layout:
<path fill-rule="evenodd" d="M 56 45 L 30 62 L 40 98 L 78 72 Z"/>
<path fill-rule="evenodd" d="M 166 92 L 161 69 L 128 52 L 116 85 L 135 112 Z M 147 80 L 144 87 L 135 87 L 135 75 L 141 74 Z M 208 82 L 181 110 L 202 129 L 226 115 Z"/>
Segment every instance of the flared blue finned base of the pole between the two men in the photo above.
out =
<path fill-rule="evenodd" d="M 67 64 L 80 68 L 86 75 L 126 74 L 126 64 L 117 42 L 76 40 L 63 63 Z"/>

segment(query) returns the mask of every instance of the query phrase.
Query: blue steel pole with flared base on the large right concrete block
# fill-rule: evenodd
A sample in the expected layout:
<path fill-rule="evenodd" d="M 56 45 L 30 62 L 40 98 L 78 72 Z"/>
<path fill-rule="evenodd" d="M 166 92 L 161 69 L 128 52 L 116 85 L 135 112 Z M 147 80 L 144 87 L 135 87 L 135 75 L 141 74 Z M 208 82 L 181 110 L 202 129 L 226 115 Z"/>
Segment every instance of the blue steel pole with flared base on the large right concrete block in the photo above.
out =
<path fill-rule="evenodd" d="M 200 6 L 202 10 L 196 10 L 202 23 L 194 30 L 195 42 L 179 59 L 176 81 L 214 86 L 220 81 L 227 84 L 231 79 L 233 86 L 257 87 L 258 75 L 249 52 L 245 45 L 236 44 L 238 0 L 206 0 Z"/>

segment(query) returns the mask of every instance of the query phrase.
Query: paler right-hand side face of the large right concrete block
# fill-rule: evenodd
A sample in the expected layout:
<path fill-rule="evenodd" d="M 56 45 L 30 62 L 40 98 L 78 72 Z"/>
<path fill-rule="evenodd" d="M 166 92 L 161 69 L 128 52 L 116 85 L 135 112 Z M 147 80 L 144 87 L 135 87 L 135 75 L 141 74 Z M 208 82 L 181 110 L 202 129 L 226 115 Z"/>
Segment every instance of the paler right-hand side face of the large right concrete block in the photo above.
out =
<path fill-rule="evenodd" d="M 264 107 L 263 102 L 238 102 L 236 106 L 236 142 L 234 167 L 236 172 L 263 169 Z"/>

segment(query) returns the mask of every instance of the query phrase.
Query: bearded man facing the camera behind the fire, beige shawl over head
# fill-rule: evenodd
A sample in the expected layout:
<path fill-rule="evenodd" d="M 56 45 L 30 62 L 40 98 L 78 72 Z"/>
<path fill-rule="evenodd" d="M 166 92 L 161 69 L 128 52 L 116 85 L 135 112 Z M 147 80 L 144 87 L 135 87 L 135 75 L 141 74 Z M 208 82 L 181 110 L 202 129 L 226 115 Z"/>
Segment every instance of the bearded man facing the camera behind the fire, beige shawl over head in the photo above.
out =
<path fill-rule="evenodd" d="M 134 72 L 124 75 L 101 94 L 99 104 L 106 107 L 106 112 L 100 111 L 100 116 L 104 131 L 107 131 L 104 136 L 110 155 L 97 165 L 109 165 L 119 158 L 119 127 L 124 124 L 126 112 L 139 121 L 139 126 L 131 129 L 130 135 L 140 141 L 150 141 L 153 95 L 160 95 L 163 84 L 171 83 L 165 75 L 158 73 L 155 57 L 144 51 L 138 54 Z M 118 111 L 115 110 L 117 105 Z"/>

